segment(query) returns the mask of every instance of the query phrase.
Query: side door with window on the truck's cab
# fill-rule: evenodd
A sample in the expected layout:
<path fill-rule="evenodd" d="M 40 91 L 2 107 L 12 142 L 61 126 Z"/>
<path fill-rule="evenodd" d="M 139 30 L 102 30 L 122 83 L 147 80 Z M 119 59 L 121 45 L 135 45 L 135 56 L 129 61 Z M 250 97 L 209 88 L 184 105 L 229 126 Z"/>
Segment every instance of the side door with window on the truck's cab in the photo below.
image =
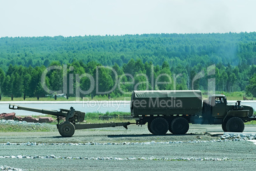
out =
<path fill-rule="evenodd" d="M 213 117 L 223 117 L 227 113 L 226 111 L 227 99 L 225 97 L 216 97 L 215 105 L 212 108 Z"/>

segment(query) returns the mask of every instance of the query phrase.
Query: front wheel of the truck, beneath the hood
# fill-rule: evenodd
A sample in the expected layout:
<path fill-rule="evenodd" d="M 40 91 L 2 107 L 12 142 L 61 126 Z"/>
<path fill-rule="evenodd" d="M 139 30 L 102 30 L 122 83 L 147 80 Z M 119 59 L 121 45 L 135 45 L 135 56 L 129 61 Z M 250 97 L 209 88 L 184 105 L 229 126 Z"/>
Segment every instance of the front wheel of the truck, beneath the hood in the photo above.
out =
<path fill-rule="evenodd" d="M 245 130 L 245 123 L 238 117 L 232 117 L 227 121 L 226 125 L 228 132 L 243 132 Z"/>

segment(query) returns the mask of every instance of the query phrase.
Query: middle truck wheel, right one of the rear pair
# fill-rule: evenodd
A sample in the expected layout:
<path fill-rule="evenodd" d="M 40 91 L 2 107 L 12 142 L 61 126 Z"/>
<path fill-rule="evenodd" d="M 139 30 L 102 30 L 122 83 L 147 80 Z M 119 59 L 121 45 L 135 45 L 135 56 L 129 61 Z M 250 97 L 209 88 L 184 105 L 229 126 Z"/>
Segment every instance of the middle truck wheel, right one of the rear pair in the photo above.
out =
<path fill-rule="evenodd" d="M 185 118 L 177 117 L 171 121 L 171 132 L 173 134 L 185 134 L 188 132 L 189 124 Z"/>

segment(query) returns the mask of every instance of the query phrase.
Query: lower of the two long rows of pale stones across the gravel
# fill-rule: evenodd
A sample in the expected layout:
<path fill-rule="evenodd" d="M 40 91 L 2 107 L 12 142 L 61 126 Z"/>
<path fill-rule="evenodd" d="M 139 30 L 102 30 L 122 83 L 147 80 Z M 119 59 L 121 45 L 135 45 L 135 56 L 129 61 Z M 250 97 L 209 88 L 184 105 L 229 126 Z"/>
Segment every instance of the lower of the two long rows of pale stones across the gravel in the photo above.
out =
<path fill-rule="evenodd" d="M 71 156 L 24 156 L 24 155 L 18 155 L 18 156 L 0 156 L 1 158 L 18 158 L 18 159 L 71 159 L 71 160 L 164 160 L 164 161 L 227 161 L 229 158 L 113 158 L 113 157 L 71 157 Z"/>

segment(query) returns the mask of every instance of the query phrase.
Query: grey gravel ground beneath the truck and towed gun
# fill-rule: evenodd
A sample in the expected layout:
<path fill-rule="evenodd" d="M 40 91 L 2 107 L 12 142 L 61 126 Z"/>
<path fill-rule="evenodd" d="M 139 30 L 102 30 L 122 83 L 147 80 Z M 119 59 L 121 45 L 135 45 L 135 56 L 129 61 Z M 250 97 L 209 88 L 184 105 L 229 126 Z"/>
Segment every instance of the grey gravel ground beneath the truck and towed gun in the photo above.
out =
<path fill-rule="evenodd" d="M 136 125 L 128 130 L 76 130 L 71 138 L 60 137 L 57 131 L 0 133 L 0 166 L 22 170 L 255 170 L 256 145 L 243 139 L 220 140 L 223 133 L 206 133 L 219 127 L 191 125 L 186 135 L 164 136 Z"/>

